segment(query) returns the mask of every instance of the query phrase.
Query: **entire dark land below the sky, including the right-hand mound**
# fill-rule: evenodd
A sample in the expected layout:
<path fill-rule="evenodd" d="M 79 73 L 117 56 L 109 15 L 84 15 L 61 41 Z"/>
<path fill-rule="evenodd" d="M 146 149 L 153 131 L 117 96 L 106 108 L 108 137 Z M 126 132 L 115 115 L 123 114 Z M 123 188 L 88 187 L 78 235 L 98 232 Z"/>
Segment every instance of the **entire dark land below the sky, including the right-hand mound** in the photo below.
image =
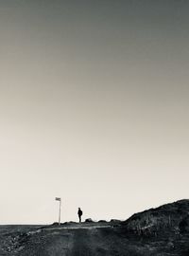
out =
<path fill-rule="evenodd" d="M 0 255 L 189 255 L 189 200 L 132 215 L 50 226 L 0 226 Z"/>

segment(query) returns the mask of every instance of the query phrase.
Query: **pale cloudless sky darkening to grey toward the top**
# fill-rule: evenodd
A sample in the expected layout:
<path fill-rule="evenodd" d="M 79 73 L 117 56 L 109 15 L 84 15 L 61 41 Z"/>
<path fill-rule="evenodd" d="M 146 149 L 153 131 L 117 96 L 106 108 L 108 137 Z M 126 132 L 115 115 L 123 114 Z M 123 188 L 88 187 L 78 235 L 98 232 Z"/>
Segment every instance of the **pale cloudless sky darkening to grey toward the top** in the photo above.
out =
<path fill-rule="evenodd" d="M 0 0 L 0 224 L 188 198 L 189 1 Z"/>

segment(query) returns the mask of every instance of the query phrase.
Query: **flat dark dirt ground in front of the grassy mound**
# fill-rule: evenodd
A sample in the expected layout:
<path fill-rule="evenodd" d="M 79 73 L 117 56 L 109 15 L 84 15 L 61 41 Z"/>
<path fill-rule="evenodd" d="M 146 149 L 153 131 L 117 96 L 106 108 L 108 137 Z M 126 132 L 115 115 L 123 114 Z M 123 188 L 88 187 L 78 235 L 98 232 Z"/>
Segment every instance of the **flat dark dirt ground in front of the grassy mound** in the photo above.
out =
<path fill-rule="evenodd" d="M 0 256 L 184 256 L 188 242 L 143 238 L 112 223 L 0 226 Z"/>

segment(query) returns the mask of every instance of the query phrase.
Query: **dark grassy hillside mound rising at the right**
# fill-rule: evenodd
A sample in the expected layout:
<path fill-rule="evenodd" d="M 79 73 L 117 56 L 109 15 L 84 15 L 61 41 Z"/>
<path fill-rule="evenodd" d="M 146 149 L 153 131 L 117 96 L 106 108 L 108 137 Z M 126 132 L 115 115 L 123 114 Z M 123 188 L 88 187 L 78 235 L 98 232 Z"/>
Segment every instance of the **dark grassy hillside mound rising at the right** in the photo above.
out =
<path fill-rule="evenodd" d="M 139 234 L 182 233 L 189 229 L 189 200 L 180 200 L 156 209 L 133 214 L 123 225 Z"/>

